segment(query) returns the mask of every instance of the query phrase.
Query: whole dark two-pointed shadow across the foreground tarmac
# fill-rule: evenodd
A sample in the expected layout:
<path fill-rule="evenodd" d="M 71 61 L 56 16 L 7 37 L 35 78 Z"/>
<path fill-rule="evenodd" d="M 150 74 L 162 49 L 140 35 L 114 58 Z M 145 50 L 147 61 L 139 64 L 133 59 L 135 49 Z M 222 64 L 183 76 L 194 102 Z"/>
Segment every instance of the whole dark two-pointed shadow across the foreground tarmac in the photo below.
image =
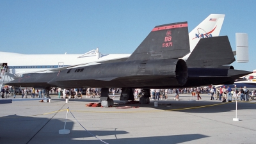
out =
<path fill-rule="evenodd" d="M 88 132 L 73 131 L 74 122 L 67 120 L 66 128 L 70 134 L 58 134 L 63 129 L 65 120 L 56 118 L 35 118 L 29 116 L 9 115 L 0 118 L 0 143 L 102 143 Z M 129 134 L 126 131 L 90 131 L 96 136 L 115 136 L 103 140 L 106 143 L 183 143 L 208 136 L 202 134 L 180 134 L 173 136 L 152 136 L 143 138 L 121 138 L 116 135 Z"/>

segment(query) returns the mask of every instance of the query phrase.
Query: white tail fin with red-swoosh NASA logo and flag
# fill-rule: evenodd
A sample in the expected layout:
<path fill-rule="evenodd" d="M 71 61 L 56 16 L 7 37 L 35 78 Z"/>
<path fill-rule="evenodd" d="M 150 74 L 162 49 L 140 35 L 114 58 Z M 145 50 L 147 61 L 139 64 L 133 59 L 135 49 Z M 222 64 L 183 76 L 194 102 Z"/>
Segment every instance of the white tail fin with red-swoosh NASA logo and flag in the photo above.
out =
<path fill-rule="evenodd" d="M 189 33 L 191 52 L 201 38 L 219 36 L 224 17 L 223 14 L 211 14 Z"/>

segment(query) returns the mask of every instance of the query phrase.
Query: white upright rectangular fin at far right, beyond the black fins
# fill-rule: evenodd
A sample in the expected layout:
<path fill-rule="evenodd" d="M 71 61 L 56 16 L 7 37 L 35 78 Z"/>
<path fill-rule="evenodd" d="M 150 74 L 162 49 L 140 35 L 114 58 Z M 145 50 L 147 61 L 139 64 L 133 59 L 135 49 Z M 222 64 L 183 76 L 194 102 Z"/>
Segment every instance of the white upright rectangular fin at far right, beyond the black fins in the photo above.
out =
<path fill-rule="evenodd" d="M 249 61 L 247 33 L 236 33 L 236 61 L 237 63 Z"/>

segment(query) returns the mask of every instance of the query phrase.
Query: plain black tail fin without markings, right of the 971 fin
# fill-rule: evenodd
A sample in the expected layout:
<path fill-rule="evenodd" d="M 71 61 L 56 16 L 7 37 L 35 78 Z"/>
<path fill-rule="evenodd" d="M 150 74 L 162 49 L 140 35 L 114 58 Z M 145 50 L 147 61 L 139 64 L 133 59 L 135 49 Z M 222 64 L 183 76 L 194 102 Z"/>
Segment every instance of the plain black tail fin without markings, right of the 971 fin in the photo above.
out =
<path fill-rule="evenodd" d="M 188 67 L 230 65 L 235 61 L 228 36 L 202 38 L 186 61 Z"/>

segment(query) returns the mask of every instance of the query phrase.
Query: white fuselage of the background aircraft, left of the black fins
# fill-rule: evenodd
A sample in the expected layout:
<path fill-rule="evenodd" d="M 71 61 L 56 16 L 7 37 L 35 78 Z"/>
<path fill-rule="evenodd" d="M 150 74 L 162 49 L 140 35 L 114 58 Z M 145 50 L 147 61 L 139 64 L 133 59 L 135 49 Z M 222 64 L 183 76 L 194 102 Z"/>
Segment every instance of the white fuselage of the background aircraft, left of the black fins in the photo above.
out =
<path fill-rule="evenodd" d="M 13 52 L 0 52 L 0 65 L 8 65 L 8 72 L 4 83 L 8 83 L 31 72 L 58 72 L 66 68 L 81 67 L 125 61 L 131 54 L 100 54 L 99 49 L 84 54 L 19 54 Z"/>

